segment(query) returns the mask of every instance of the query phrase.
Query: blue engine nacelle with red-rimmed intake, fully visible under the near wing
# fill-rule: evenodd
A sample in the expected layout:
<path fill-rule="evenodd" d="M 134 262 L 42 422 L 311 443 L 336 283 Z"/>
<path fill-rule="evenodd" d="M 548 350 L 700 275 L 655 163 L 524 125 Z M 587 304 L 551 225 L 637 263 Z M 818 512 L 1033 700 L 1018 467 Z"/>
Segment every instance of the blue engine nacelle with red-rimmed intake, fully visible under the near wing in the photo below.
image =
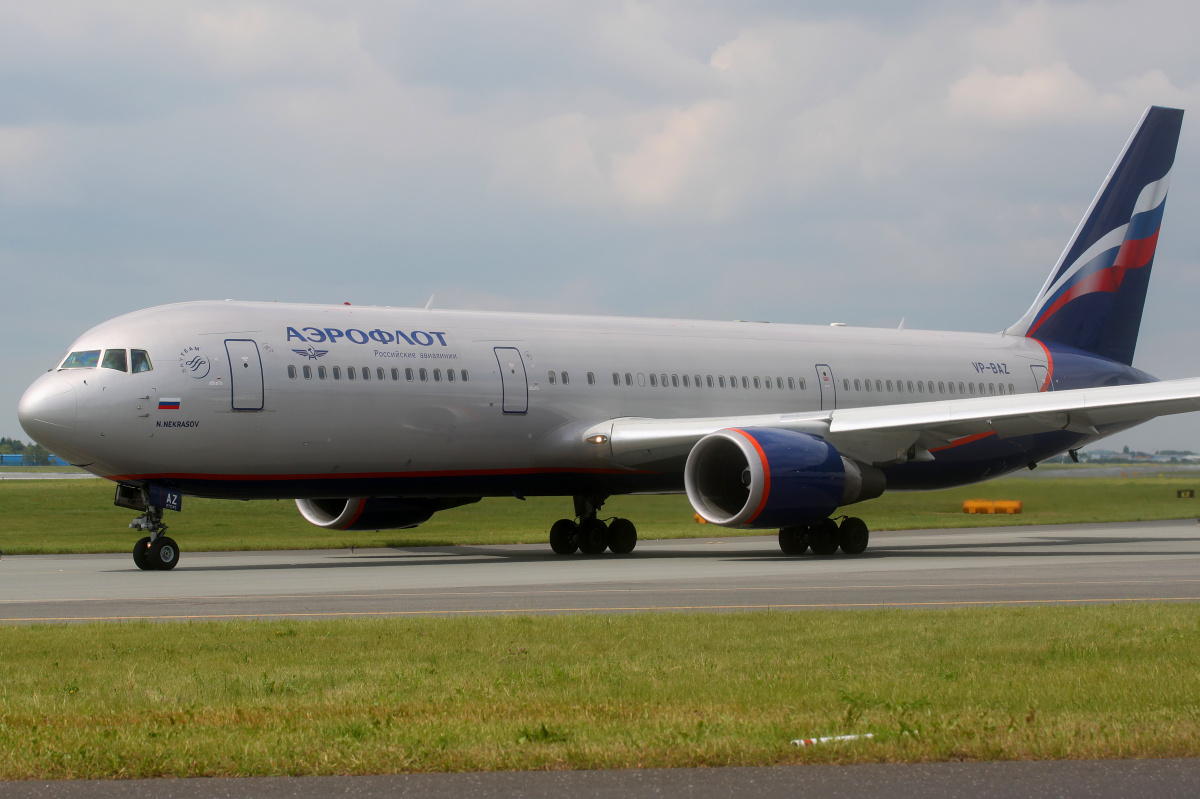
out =
<path fill-rule="evenodd" d="M 883 493 L 883 473 L 816 435 L 727 428 L 700 439 L 684 467 L 688 500 L 721 527 L 782 528 L 828 518 Z"/>

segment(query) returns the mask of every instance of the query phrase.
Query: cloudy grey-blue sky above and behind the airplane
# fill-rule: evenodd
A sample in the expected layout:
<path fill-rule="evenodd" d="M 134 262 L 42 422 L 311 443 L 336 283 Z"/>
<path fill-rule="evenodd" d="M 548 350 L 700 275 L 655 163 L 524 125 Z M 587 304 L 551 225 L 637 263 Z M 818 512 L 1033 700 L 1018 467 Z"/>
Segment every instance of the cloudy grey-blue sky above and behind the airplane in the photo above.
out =
<path fill-rule="evenodd" d="M 0 5 L 0 434 L 193 299 L 996 331 L 1188 109 L 1135 365 L 1200 374 L 1200 10 Z M 1114 443 L 1200 450 L 1200 419 Z"/>

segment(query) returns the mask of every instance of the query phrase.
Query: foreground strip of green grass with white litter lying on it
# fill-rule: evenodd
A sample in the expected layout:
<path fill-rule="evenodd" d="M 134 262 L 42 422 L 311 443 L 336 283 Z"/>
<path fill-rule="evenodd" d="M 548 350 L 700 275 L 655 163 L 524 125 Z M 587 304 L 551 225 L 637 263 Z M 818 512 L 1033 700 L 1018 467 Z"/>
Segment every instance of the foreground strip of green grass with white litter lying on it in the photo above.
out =
<path fill-rule="evenodd" d="M 11 626 L 0 651 L 10 780 L 1200 756 L 1190 603 Z"/>

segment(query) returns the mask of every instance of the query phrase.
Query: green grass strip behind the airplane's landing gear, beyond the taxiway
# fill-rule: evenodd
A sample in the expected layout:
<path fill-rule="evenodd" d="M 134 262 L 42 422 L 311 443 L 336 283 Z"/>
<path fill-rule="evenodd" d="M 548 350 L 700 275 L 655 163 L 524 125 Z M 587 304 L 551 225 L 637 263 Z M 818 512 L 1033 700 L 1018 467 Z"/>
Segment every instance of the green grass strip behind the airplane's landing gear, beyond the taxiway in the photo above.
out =
<path fill-rule="evenodd" d="M 1175 492 L 1198 488 L 1198 482 L 1178 476 L 1009 477 L 948 491 L 889 493 L 840 512 L 862 516 L 872 530 L 1187 518 L 1200 515 L 1200 499 L 1176 499 Z M 1020 499 L 1025 510 L 1014 516 L 962 513 L 962 500 L 973 498 Z M 554 519 L 569 515 L 566 497 L 490 498 L 438 513 L 413 530 L 342 533 L 308 524 L 292 501 L 185 498 L 184 511 L 168 512 L 166 521 L 184 549 L 204 552 L 535 543 L 547 540 Z M 139 537 L 128 529 L 134 516 L 113 506 L 108 481 L 0 481 L 0 551 L 8 554 L 124 552 Z M 631 518 L 642 539 L 763 533 L 697 524 L 683 495 L 614 497 L 602 516 Z"/>

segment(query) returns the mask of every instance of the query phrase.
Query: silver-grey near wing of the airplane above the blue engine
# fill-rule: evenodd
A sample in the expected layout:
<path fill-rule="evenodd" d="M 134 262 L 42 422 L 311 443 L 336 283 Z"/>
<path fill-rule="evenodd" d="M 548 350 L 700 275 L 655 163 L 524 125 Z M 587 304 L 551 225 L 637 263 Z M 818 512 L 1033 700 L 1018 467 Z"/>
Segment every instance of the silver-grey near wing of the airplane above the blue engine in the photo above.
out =
<path fill-rule="evenodd" d="M 998 438 L 1072 431 L 1099 438 L 1170 414 L 1200 410 L 1200 378 L 1069 391 L 1003 395 L 871 408 L 698 419 L 612 419 L 584 431 L 593 444 L 607 437 L 612 459 L 624 465 L 686 456 L 704 435 L 726 427 L 774 427 L 821 435 L 847 457 L 883 465 L 936 458 L 931 450 L 983 434 Z"/>

